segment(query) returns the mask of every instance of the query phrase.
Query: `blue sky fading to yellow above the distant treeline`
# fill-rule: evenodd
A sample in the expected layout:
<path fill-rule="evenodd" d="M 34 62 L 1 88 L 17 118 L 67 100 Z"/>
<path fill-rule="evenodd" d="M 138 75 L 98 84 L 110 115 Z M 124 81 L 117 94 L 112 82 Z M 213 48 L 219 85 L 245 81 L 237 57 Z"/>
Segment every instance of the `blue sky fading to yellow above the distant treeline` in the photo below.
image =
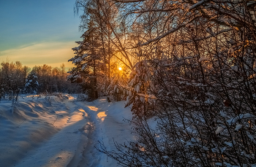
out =
<path fill-rule="evenodd" d="M 0 62 L 72 67 L 67 61 L 83 34 L 74 5 L 75 0 L 0 0 Z"/>

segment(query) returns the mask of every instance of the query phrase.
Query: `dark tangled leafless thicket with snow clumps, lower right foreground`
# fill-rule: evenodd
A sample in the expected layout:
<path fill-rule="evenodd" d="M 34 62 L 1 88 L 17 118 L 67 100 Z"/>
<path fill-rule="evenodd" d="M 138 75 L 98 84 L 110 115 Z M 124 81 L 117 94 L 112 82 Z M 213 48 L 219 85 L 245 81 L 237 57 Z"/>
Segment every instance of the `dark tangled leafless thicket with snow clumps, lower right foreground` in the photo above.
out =
<path fill-rule="evenodd" d="M 193 59 L 196 63 L 197 58 Z M 185 66 L 186 60 L 182 61 L 181 66 Z M 221 63 L 222 66 L 215 60 L 207 63 L 214 69 L 204 70 L 204 83 L 200 69 L 189 74 L 192 66 L 187 67 L 186 75 L 173 70 L 176 66 L 159 68 L 151 77 L 154 88 L 157 87 L 151 90 L 157 104 L 154 120 L 148 122 L 145 114 L 138 114 L 143 110 L 135 101 L 132 107 L 139 117 L 132 123 L 137 141 L 118 145 L 119 152 L 106 149 L 102 152 L 124 166 L 255 164 L 255 95 L 249 93 L 255 92 L 255 80 L 244 76 L 244 81 L 238 81 L 238 77 L 252 71 L 236 74 L 229 63 Z"/>

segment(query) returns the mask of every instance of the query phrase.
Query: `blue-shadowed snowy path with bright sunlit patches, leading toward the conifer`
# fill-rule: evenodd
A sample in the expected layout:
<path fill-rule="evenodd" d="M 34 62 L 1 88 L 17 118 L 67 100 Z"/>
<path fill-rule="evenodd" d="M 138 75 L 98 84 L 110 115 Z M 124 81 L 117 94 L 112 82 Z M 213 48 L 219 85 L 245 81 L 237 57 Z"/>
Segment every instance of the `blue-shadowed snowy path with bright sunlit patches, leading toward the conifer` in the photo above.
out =
<path fill-rule="evenodd" d="M 116 149 L 113 139 L 117 142 L 124 142 L 125 139 L 130 139 L 131 126 L 129 123 L 122 121 L 123 117 L 131 118 L 129 109 L 124 109 L 124 102 L 118 104 L 109 104 L 105 99 L 87 103 L 76 102 L 91 116 L 89 118 L 92 125 L 92 135 L 89 135 L 89 146 L 83 151 L 83 159 L 80 160 L 78 166 L 117 166 L 115 160 L 107 158 L 102 153 L 98 152 L 95 147 L 98 147 L 98 141 L 103 141 L 109 150 Z M 125 112 L 124 112 L 125 111 Z M 123 115 L 124 114 L 124 115 Z"/>

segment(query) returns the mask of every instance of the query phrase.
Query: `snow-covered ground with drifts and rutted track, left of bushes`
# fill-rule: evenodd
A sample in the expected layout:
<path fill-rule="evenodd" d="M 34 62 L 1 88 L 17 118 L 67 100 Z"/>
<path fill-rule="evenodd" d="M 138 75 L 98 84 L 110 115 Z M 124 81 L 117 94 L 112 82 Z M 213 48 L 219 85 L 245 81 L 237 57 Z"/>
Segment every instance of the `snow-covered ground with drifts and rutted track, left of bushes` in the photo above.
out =
<path fill-rule="evenodd" d="M 64 98 L 22 96 L 11 108 L 0 102 L 0 166 L 117 166 L 98 152 L 98 141 L 108 150 L 133 139 L 129 108 L 124 101 L 76 101 Z"/>

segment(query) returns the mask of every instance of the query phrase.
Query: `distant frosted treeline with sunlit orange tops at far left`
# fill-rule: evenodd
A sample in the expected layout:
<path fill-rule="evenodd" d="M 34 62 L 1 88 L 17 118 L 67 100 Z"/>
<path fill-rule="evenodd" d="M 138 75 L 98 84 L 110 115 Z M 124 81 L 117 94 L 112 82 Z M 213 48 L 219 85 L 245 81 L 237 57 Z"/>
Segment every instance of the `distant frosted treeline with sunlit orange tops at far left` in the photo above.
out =
<path fill-rule="evenodd" d="M 30 68 L 20 61 L 5 61 L 0 66 L 0 99 L 12 100 L 20 93 L 77 93 L 78 85 L 67 82 L 64 63 L 60 68 L 46 64 Z"/>

